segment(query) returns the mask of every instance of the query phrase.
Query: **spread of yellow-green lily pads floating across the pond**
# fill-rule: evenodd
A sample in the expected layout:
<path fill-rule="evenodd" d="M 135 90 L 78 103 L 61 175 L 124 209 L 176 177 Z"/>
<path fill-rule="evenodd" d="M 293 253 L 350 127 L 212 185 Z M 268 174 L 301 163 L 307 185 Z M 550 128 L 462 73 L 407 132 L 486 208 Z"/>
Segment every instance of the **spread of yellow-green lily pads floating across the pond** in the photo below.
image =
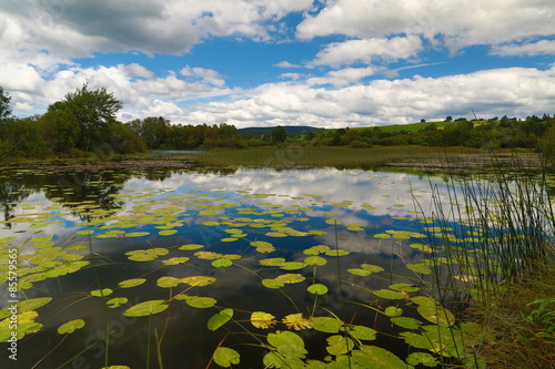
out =
<path fill-rule="evenodd" d="M 164 194 L 164 191 L 111 193 L 109 197 L 121 205 L 119 212 L 105 209 L 92 199 L 80 204 L 52 205 L 47 203 L 21 205 L 22 211 L 9 219 L 10 224 L 27 225 L 28 229 L 41 229 L 72 223 L 74 235 L 61 237 L 54 234 L 20 235 L 0 239 L 2 260 L 7 259 L 9 248 L 20 250 L 18 257 L 18 303 L 17 336 L 23 340 L 27 336 L 40 332 L 40 309 L 52 301 L 48 291 L 41 290 L 41 283 L 47 279 L 62 279 L 81 273 L 83 269 L 98 267 L 99 254 L 95 249 L 104 242 L 121 240 L 128 243 L 124 256 L 129 263 L 148 264 L 149 270 L 168 271 L 168 275 L 152 279 L 150 274 L 119 280 L 110 286 L 91 289 L 81 300 L 101 299 L 111 310 L 119 310 L 123 316 L 150 319 L 163 317 L 172 306 L 186 304 L 196 309 L 213 309 L 214 315 L 206 320 L 211 331 L 226 329 L 229 334 L 248 332 L 252 338 L 249 345 L 260 347 L 261 361 L 268 368 L 412 368 L 418 365 L 436 367 L 444 362 L 463 362 L 467 367 L 482 363 L 473 353 L 478 344 L 477 326 L 463 322 L 436 298 L 434 298 L 427 276 L 433 268 L 450 260 L 432 258 L 432 248 L 424 239 L 440 237 L 451 243 L 464 243 L 480 235 L 475 229 L 467 238 L 460 238 L 450 233 L 447 227 L 438 227 L 433 221 L 414 216 L 420 224 L 417 230 L 386 229 L 367 234 L 362 224 L 346 223 L 335 217 L 332 212 L 324 212 L 325 227 L 314 229 L 310 226 L 311 212 L 321 211 L 317 203 L 311 206 L 266 202 L 273 194 L 254 194 L 239 191 L 238 202 L 230 202 L 220 189 L 193 189 L 186 194 Z M 321 196 L 309 194 L 313 201 Z M 293 198 L 300 199 L 300 198 Z M 54 199 L 56 201 L 56 199 Z M 58 198 L 62 201 L 62 198 Z M 339 208 L 352 206 L 352 202 L 329 204 Z M 41 212 L 31 212 L 34 206 Z M 371 204 L 361 208 L 372 212 Z M 71 218 L 75 214 L 79 219 Z M 7 221 L 8 222 L 8 221 Z M 26 230 L 28 232 L 28 230 Z M 30 232 L 30 230 L 29 230 Z M 183 238 L 193 239 L 198 234 L 208 235 L 209 243 L 178 243 Z M 342 257 L 351 253 L 341 247 L 347 237 L 360 234 L 362 239 L 370 237 L 379 242 L 389 242 L 400 248 L 408 246 L 418 256 L 406 259 L 402 273 L 411 283 L 392 283 L 387 288 L 373 288 L 372 278 L 387 280 L 393 273 L 382 266 L 360 263 L 356 267 L 343 268 L 343 273 L 354 276 L 356 283 L 345 283 L 343 278 L 331 278 L 320 273 L 324 266 L 333 263 L 342 265 Z M 196 235 L 196 236 L 195 236 Z M 315 236 L 331 235 L 335 243 L 317 244 Z M 335 237 L 333 237 L 335 235 Z M 310 245 L 302 249 L 301 257 L 287 258 L 281 253 L 284 240 Z M 133 242 L 133 243 L 131 243 Z M 162 244 L 158 245 L 158 244 Z M 129 246 L 131 245 L 131 246 Z M 274 254 L 274 255 L 272 255 Z M 295 254 L 293 254 L 295 255 Z M 393 256 L 392 256 L 393 257 Z M 402 256 L 400 256 L 402 257 Z M 0 266 L 3 277 L 8 276 L 8 265 Z M 174 269 L 172 269 L 174 268 Z M 172 270 L 184 270 L 188 275 L 176 277 Z M 295 285 L 305 291 L 302 299 L 312 303 L 305 309 L 291 305 L 292 311 L 239 311 L 233 306 L 223 306 L 215 296 L 210 296 L 208 287 L 224 278 L 218 270 L 239 268 L 254 278 L 260 288 L 276 290 L 287 295 L 287 286 Z M 194 273 L 196 271 L 196 274 Z M 395 271 L 398 273 L 398 271 Z M 466 274 L 472 281 L 472 270 Z M 154 283 L 168 290 L 165 298 L 144 298 L 131 305 L 128 293 L 137 290 L 142 296 L 141 286 Z M 400 357 L 380 345 L 380 334 L 372 322 L 353 324 L 347 317 L 340 318 L 341 311 L 333 311 L 320 305 L 331 294 L 332 288 L 354 288 L 366 294 L 365 300 L 346 301 L 357 304 L 362 309 L 374 311 L 390 321 L 392 332 L 408 348 L 406 357 Z M 27 294 L 47 295 L 27 298 Z M 206 296 L 209 295 L 209 296 Z M 307 296 L 307 297 L 306 297 Z M 294 300 L 295 296 L 289 297 Z M 75 306 L 77 303 L 75 303 Z M 253 307 L 255 308 L 255 307 Z M 0 311 L 0 341 L 8 341 L 12 332 L 9 327 L 8 307 Z M 87 318 L 71 319 L 61 324 L 57 331 L 65 337 L 87 327 Z M 324 357 L 313 357 L 305 347 L 307 334 L 319 335 Z M 214 348 L 213 361 L 221 367 L 241 363 L 241 349 L 228 347 L 223 338 Z M 127 368 L 125 366 L 112 366 Z"/>

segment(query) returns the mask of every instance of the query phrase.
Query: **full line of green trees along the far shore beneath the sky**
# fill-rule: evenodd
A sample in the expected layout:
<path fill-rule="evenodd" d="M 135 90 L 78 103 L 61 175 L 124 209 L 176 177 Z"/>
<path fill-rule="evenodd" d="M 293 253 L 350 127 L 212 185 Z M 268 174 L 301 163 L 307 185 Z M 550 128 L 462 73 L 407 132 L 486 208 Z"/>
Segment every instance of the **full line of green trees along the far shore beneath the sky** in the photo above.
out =
<path fill-rule="evenodd" d="M 117 113 L 122 101 L 105 89 L 87 84 L 48 106 L 44 114 L 11 115 L 10 95 L 0 86 L 0 158 L 81 156 L 94 152 L 137 153 L 145 150 L 244 148 L 264 145 L 347 146 L 373 145 L 465 146 L 478 148 L 525 147 L 555 153 L 555 119 L 549 114 L 525 120 L 503 116 L 486 121 L 460 117 L 440 127 L 390 132 L 381 127 L 317 130 L 287 134 L 283 126 L 271 134 L 241 134 L 233 125 L 172 124 L 163 116 L 122 123 Z"/>

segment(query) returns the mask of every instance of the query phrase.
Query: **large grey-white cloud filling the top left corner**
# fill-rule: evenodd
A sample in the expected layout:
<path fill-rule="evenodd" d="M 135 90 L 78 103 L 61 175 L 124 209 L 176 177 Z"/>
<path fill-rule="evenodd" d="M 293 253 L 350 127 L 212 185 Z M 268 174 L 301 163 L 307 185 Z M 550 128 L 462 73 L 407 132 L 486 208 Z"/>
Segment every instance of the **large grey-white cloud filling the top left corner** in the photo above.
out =
<path fill-rule="evenodd" d="M 138 50 L 182 54 L 203 39 L 268 40 L 275 21 L 311 0 L 97 0 L 0 3 L 0 45 L 47 49 L 69 58 Z"/>

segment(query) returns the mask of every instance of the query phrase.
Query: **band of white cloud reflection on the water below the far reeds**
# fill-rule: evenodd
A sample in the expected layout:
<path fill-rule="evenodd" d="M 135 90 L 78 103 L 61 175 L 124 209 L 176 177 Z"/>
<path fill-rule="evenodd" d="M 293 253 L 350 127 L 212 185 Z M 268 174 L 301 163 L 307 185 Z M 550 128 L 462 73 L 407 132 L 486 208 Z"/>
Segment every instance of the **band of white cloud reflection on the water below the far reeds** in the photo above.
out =
<path fill-rule="evenodd" d="M 416 188 L 428 189 L 428 180 L 405 173 L 339 171 L 333 168 L 313 170 L 254 170 L 241 168 L 231 175 L 218 174 L 179 174 L 172 175 L 163 182 L 132 180 L 135 188 L 149 187 L 160 193 L 154 198 L 173 191 L 186 193 L 191 189 L 236 192 L 248 191 L 250 194 L 273 194 L 270 202 L 291 206 L 291 204 L 322 204 L 353 202 L 353 206 L 370 204 L 376 209 L 375 215 L 406 216 L 413 208 L 413 196 L 408 192 Z M 286 195 L 289 197 L 281 197 Z M 313 199 L 310 195 L 323 196 Z M 303 197 L 303 201 L 290 197 Z M 255 201 L 248 203 L 254 204 Z M 430 202 L 420 197 L 423 208 Z M 397 205 L 397 206 L 395 206 Z M 405 207 L 400 207 L 405 205 Z"/>

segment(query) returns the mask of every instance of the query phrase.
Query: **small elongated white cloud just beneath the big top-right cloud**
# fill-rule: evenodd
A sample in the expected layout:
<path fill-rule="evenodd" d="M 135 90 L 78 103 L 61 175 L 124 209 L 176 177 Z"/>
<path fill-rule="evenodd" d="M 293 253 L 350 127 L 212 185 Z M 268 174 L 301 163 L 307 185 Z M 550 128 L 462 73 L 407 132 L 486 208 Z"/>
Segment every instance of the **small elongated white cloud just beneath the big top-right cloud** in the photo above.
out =
<path fill-rule="evenodd" d="M 349 40 L 329 44 L 316 54 L 311 64 L 340 66 L 353 63 L 370 64 L 374 59 L 396 61 L 415 57 L 421 50 L 422 41 L 417 35 Z"/>

